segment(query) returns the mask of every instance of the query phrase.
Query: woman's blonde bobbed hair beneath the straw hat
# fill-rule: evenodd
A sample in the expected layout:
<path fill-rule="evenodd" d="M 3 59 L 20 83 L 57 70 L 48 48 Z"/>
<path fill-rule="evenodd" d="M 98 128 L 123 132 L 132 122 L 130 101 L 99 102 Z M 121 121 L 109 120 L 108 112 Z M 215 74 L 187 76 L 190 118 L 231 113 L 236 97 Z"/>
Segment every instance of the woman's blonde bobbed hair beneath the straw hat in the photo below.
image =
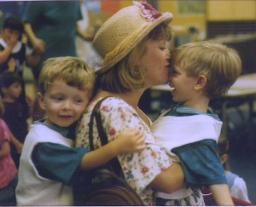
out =
<path fill-rule="evenodd" d="M 97 77 L 98 87 L 115 93 L 143 88 L 145 71 L 137 66 L 137 60 L 140 60 L 145 54 L 148 39 L 160 40 L 163 38 L 166 40 L 171 38 L 171 29 L 165 23 L 154 27 L 148 33 L 148 36 L 144 37 L 125 58 L 112 66 L 107 72 L 100 74 Z"/>

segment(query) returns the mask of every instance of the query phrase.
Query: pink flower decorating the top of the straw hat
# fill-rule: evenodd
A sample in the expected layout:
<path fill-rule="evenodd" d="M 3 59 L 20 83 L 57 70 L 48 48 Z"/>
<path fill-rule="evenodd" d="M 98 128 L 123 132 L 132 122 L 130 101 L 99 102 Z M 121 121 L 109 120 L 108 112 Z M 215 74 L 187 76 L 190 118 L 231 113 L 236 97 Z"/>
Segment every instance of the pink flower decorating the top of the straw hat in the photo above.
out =
<path fill-rule="evenodd" d="M 154 7 L 148 4 L 145 0 L 141 3 L 134 1 L 133 4 L 141 9 L 143 17 L 148 20 L 156 20 L 162 15 L 162 13 L 154 9 Z"/>

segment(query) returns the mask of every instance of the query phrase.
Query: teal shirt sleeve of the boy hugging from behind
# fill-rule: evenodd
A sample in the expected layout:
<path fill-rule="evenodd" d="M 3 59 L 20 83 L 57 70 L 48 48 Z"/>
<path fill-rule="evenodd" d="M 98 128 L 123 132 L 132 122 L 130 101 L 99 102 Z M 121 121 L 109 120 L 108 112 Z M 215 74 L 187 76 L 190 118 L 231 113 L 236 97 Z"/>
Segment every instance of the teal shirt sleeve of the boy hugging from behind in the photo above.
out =
<path fill-rule="evenodd" d="M 39 175 L 73 185 L 79 165 L 87 153 L 84 147 L 66 147 L 55 143 L 39 143 L 32 152 L 32 161 Z"/>

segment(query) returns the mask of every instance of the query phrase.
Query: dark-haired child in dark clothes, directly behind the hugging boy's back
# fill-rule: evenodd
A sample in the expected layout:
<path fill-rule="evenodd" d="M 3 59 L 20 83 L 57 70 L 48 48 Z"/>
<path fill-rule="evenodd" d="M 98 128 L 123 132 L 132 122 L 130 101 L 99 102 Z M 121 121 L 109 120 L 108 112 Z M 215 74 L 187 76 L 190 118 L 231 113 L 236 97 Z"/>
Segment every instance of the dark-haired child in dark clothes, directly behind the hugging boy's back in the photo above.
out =
<path fill-rule="evenodd" d="M 20 152 L 28 133 L 27 119 L 31 117 L 32 107 L 20 103 L 22 80 L 15 72 L 3 72 L 0 75 L 0 95 L 3 98 L 3 120 L 9 126 L 15 139 L 11 139 L 11 155 L 17 169 L 20 165 Z"/>

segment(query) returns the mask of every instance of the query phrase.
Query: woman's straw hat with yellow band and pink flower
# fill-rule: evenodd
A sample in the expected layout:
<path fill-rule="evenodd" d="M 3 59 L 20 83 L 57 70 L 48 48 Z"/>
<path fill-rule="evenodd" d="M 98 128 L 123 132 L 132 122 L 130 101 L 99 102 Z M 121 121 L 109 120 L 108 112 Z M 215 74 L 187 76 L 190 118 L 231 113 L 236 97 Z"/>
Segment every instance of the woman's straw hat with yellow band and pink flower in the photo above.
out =
<path fill-rule="evenodd" d="M 120 9 L 101 26 L 93 40 L 93 46 L 103 59 L 102 68 L 96 73 L 108 71 L 129 54 L 155 26 L 171 21 L 171 13 L 160 13 L 145 1 L 134 1 L 133 6 Z"/>

